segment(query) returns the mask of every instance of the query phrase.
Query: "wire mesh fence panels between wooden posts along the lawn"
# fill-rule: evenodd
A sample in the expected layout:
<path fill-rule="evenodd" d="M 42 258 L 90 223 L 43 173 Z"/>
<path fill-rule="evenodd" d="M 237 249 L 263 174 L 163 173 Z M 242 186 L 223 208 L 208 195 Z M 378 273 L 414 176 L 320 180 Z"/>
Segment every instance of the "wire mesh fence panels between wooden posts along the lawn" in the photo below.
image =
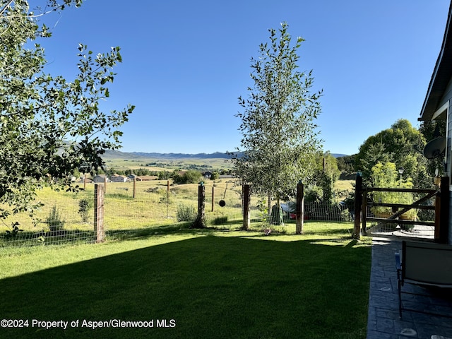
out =
<path fill-rule="evenodd" d="M 44 206 L 35 213 L 35 223 L 28 215 L 18 214 L 2 220 L 0 246 L 28 246 L 96 241 L 94 184 L 86 184 L 78 194 L 40 192 Z M 103 224 L 108 238 L 126 237 L 152 227 L 192 222 L 198 209 L 198 184 L 173 185 L 167 181 L 107 182 Z M 242 186 L 233 178 L 207 180 L 205 217 L 207 225 L 226 225 L 243 218 Z M 276 201 L 251 196 L 251 221 L 275 223 Z M 281 203 L 282 221 L 295 222 L 295 202 Z M 305 203 L 306 220 L 350 220 L 345 206 L 329 203 Z M 19 222 L 15 226 L 15 222 Z"/>

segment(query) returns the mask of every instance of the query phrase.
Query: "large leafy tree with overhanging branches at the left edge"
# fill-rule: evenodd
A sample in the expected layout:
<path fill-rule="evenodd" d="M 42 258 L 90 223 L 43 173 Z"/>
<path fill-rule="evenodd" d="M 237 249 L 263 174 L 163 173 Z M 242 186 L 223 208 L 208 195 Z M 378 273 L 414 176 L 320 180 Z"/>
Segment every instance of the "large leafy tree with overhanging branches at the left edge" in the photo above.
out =
<path fill-rule="evenodd" d="M 80 6 L 81 0 L 47 1 L 49 11 Z M 51 33 L 28 1 L 0 0 L 0 216 L 28 210 L 43 185 L 71 187 L 75 169 L 102 167 L 101 155 L 119 148 L 119 126 L 133 106 L 102 112 L 109 97 L 119 47 L 93 55 L 78 46 L 78 76 L 67 81 L 45 73 L 44 48 Z M 88 165 L 87 165 L 88 164 Z M 87 171 L 88 172 L 88 171 Z M 56 185 L 57 183 L 57 185 Z M 9 206 L 9 207 L 8 207 Z"/>

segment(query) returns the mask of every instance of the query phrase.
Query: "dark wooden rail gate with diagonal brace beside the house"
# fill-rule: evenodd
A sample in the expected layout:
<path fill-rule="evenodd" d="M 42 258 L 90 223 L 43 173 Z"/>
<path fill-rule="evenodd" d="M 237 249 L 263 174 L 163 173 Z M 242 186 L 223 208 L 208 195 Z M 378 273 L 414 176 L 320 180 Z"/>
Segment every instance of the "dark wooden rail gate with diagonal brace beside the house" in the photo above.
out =
<path fill-rule="evenodd" d="M 397 189 L 381 187 L 362 187 L 361 178 L 357 177 L 355 198 L 355 234 L 359 232 L 367 236 L 381 237 L 414 237 L 447 241 L 448 230 L 448 177 L 441 178 L 440 189 Z M 360 189 L 359 189 L 360 188 Z M 391 202 L 378 200 L 376 192 L 391 194 Z M 403 194 L 416 194 L 417 201 L 402 203 Z M 380 194 L 381 196 L 382 194 Z M 397 197 L 400 200 L 397 201 Z M 410 216 L 410 210 L 417 213 Z"/>

